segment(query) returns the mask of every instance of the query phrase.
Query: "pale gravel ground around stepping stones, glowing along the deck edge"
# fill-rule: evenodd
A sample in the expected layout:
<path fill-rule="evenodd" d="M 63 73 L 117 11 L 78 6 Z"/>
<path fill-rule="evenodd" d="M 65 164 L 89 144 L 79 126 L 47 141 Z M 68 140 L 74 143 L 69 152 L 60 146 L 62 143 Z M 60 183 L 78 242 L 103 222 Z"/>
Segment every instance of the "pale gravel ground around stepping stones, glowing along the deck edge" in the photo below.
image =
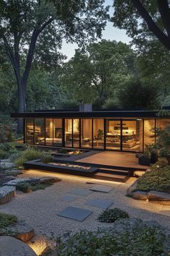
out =
<path fill-rule="evenodd" d="M 55 183 L 53 186 L 44 190 L 27 194 L 19 192 L 17 193 L 17 197 L 14 197 L 11 202 L 0 205 L 0 211 L 11 213 L 18 218 L 24 219 L 30 223 L 39 234 L 42 233 L 46 236 L 52 236 L 52 234 L 54 234 L 58 236 L 66 231 L 79 231 L 81 229 L 93 230 L 100 226 L 111 226 L 112 224 L 110 223 L 99 223 L 99 221 L 97 221 L 97 216 L 99 216 L 99 213 L 102 213 L 102 209 L 86 205 L 87 200 L 97 198 L 113 200 L 114 203 L 110 208 L 117 207 L 126 210 L 130 216 L 142 218 L 145 221 L 157 221 L 166 228 L 170 227 L 170 215 L 165 216 L 159 213 L 160 210 L 169 210 L 170 213 L 170 206 L 162 206 L 156 203 L 132 200 L 130 197 L 125 197 L 126 190 L 130 184 L 92 181 L 91 179 L 77 176 L 66 176 L 33 170 L 26 171 L 22 176 L 58 176 L 58 178 L 62 179 L 61 182 Z M 72 189 L 89 189 L 93 186 L 93 184 L 86 184 L 86 182 L 107 184 L 113 189 L 108 194 L 92 192 L 86 197 L 77 197 L 73 202 L 61 200 L 61 197 L 67 195 Z M 92 210 L 93 213 L 83 222 L 57 216 L 59 211 L 68 206 Z"/>

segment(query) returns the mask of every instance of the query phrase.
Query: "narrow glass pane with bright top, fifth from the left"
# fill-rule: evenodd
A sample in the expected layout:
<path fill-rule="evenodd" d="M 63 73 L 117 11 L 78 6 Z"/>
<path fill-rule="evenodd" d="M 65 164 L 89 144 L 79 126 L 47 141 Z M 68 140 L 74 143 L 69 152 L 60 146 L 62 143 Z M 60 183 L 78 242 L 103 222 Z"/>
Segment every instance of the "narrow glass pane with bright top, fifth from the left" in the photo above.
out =
<path fill-rule="evenodd" d="M 73 147 L 73 121 L 65 119 L 65 147 Z"/>

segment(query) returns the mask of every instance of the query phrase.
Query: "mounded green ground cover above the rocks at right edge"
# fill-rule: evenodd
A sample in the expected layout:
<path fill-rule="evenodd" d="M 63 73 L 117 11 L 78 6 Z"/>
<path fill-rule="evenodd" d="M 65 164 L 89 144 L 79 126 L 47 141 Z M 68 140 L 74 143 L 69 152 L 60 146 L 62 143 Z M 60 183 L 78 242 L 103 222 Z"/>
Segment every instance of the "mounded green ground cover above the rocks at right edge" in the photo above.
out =
<path fill-rule="evenodd" d="M 143 176 L 139 177 L 135 190 L 170 193 L 170 166 L 164 165 L 164 162 L 157 162 L 151 166 L 151 171 L 146 171 Z"/>

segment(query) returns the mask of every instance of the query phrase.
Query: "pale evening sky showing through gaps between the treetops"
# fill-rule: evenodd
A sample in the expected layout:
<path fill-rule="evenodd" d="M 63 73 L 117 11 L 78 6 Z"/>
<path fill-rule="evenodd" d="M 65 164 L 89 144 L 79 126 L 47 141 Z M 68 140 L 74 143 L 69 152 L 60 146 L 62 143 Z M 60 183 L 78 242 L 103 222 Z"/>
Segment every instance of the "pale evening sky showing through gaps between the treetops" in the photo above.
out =
<path fill-rule="evenodd" d="M 112 15 L 113 8 L 112 8 L 112 0 L 105 0 L 105 5 L 111 6 L 109 9 L 109 14 Z M 102 39 L 106 40 L 117 40 L 122 41 L 123 43 L 129 43 L 130 38 L 126 35 L 125 30 L 120 30 L 117 27 L 113 27 L 112 22 L 107 22 L 105 30 L 102 32 Z M 71 59 L 75 54 L 75 49 L 78 48 L 76 43 L 66 43 L 63 41 L 62 53 Z M 68 60 L 67 59 L 67 60 Z"/>

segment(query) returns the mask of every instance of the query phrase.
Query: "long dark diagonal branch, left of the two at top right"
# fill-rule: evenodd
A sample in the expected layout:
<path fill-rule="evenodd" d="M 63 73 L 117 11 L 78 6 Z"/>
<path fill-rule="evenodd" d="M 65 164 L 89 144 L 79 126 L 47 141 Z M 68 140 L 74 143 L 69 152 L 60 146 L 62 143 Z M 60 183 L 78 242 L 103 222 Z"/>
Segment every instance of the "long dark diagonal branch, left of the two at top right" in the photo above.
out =
<path fill-rule="evenodd" d="M 151 32 L 156 35 L 158 40 L 160 40 L 160 42 L 163 43 L 168 50 L 170 50 L 169 38 L 158 28 L 150 14 L 148 14 L 146 9 L 143 7 L 143 4 L 141 4 L 139 0 L 132 0 L 132 2 L 140 15 L 146 21 L 148 28 L 151 30 Z"/>

